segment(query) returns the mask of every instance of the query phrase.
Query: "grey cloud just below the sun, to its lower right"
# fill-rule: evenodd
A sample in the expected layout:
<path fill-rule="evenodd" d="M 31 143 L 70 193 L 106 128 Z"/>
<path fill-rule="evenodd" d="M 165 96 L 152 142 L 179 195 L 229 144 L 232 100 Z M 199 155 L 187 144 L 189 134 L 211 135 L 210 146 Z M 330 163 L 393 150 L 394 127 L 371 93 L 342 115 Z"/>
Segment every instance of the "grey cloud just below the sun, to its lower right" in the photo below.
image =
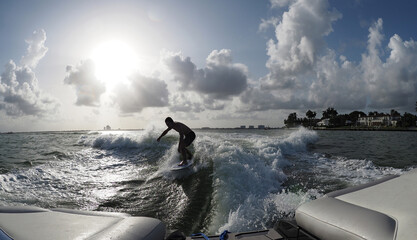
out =
<path fill-rule="evenodd" d="M 147 107 L 164 107 L 168 105 L 167 84 L 135 73 L 128 78 L 128 83 L 116 87 L 114 100 L 123 114 L 138 113 Z"/>

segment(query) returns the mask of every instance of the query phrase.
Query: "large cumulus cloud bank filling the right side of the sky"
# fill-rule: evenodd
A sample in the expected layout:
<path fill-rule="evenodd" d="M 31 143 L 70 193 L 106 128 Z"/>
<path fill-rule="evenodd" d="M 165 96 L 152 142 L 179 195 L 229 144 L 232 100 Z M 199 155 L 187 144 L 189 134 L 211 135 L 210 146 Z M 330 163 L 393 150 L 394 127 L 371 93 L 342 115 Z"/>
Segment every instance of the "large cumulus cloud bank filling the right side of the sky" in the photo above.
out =
<path fill-rule="evenodd" d="M 276 3 L 274 3 L 276 2 Z M 272 5 L 278 7 L 278 2 Z M 275 5 L 274 5 L 275 4 Z M 267 43 L 269 73 L 245 91 L 241 109 L 410 109 L 417 96 L 417 42 L 397 34 L 383 45 L 383 20 L 368 29 L 359 62 L 328 48 L 324 38 L 341 17 L 326 0 L 288 1 Z"/>

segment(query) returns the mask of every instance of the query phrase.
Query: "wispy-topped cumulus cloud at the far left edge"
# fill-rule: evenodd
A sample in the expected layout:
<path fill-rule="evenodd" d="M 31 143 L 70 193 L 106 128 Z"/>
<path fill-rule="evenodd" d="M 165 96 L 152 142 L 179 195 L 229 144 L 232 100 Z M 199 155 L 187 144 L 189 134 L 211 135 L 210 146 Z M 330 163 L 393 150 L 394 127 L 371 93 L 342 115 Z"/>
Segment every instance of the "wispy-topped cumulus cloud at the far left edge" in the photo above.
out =
<path fill-rule="evenodd" d="M 9 116 L 40 117 L 58 110 L 59 103 L 39 89 L 38 79 L 32 69 L 47 51 L 45 40 L 44 30 L 35 31 L 26 40 L 29 47 L 21 60 L 23 66 L 16 65 L 12 60 L 5 65 L 0 78 L 0 110 Z"/>

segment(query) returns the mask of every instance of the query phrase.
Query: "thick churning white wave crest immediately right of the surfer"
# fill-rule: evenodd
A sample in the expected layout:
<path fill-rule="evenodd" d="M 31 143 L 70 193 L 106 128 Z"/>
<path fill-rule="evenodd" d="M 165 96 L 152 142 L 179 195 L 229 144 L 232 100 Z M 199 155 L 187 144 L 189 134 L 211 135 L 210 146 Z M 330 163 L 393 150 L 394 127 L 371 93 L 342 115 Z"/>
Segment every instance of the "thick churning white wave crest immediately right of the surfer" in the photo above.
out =
<path fill-rule="evenodd" d="M 214 167 L 215 207 L 209 232 L 265 226 L 272 209 L 265 204 L 281 192 L 287 178 L 282 169 L 291 164 L 283 153 L 305 151 L 316 140 L 315 132 L 303 128 L 280 136 L 207 134 L 199 138 L 196 151 L 211 157 Z"/>

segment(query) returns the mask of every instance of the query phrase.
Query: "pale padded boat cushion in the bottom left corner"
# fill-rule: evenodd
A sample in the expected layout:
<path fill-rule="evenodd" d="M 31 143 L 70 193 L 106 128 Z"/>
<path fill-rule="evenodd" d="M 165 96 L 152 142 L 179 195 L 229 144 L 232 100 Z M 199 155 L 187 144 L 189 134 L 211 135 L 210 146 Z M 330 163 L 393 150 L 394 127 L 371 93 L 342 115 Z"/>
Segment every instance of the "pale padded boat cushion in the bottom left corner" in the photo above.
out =
<path fill-rule="evenodd" d="M 0 207 L 0 229 L 11 239 L 22 240 L 151 240 L 165 237 L 165 225 L 154 218 L 24 206 Z"/>

